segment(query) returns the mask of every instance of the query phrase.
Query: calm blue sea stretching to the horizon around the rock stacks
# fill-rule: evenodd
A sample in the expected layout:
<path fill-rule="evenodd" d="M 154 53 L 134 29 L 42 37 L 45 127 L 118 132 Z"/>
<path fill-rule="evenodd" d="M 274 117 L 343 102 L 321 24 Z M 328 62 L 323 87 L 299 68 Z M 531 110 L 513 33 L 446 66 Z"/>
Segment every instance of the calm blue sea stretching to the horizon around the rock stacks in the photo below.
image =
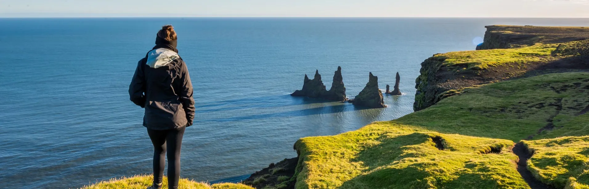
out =
<path fill-rule="evenodd" d="M 78 188 L 151 171 L 143 109 L 128 100 L 136 63 L 173 24 L 194 85 L 196 119 L 182 177 L 239 181 L 295 157 L 293 143 L 413 112 L 420 63 L 472 50 L 485 25 L 589 26 L 589 19 L 53 18 L 0 19 L 2 188 Z M 401 74 L 384 109 L 289 96 L 316 69 L 342 66 L 349 97 Z"/>

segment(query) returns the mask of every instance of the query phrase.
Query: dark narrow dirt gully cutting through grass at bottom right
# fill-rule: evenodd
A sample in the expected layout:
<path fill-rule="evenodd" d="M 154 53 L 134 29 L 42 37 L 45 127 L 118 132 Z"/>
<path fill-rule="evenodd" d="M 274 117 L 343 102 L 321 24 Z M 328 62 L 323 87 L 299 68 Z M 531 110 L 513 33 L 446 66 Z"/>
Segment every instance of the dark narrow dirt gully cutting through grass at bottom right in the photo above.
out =
<path fill-rule="evenodd" d="M 515 155 L 519 157 L 519 161 L 517 163 L 517 171 L 524 178 L 525 182 L 530 185 L 532 189 L 556 189 L 551 185 L 544 184 L 540 182 L 538 179 L 532 176 L 530 170 L 528 170 L 528 160 L 532 157 L 532 154 L 526 149 L 524 143 L 515 144 L 513 149 Z"/>

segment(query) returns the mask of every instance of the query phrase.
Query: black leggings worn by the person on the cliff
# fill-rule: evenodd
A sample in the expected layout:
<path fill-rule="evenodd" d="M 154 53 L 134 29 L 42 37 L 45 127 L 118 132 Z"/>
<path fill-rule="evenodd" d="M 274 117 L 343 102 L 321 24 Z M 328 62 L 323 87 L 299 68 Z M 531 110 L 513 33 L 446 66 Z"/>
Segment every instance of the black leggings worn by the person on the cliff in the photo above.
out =
<path fill-rule="evenodd" d="M 166 150 L 168 153 L 168 188 L 178 188 L 180 180 L 180 149 L 182 147 L 182 137 L 186 127 L 170 130 L 151 130 L 147 129 L 147 134 L 153 143 L 153 183 L 159 185 L 164 177 L 164 168 L 166 166 Z"/>

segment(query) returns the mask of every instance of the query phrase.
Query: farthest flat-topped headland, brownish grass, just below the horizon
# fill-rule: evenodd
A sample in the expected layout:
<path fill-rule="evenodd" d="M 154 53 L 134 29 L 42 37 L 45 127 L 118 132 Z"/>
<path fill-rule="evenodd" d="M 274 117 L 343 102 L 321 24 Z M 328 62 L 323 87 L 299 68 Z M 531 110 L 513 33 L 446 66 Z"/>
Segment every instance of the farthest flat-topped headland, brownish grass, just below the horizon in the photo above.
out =
<path fill-rule="evenodd" d="M 589 39 L 589 27 L 493 25 L 485 28 L 488 33 L 501 36 L 514 47 Z"/>

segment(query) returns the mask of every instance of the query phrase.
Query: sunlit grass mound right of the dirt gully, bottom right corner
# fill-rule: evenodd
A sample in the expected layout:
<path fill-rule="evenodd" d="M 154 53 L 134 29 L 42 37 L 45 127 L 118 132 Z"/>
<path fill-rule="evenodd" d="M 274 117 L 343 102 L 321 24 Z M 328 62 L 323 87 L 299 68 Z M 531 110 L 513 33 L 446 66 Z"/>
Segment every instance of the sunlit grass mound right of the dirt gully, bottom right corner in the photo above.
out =
<path fill-rule="evenodd" d="M 523 141 L 534 156 L 528 169 L 559 188 L 589 188 L 589 136 Z"/>

